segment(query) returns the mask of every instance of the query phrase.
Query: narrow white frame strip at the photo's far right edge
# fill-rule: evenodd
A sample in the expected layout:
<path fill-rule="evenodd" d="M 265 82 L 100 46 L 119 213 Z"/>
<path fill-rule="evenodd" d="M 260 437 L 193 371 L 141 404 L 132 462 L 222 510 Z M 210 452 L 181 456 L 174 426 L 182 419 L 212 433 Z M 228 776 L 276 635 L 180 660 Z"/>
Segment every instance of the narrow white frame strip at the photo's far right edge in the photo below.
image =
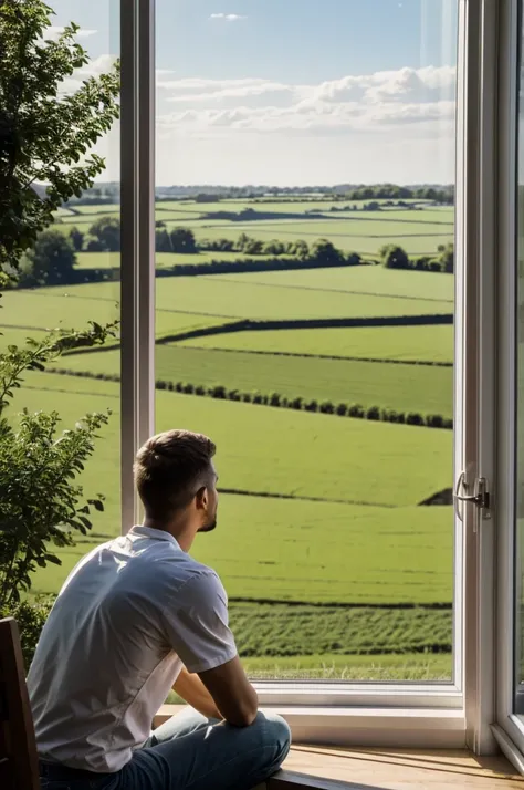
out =
<path fill-rule="evenodd" d="M 516 262 L 518 150 L 518 0 L 501 8 L 501 85 L 499 106 L 499 268 L 497 268 L 497 610 L 496 723 L 493 734 L 513 765 L 524 773 L 524 725 L 514 710 L 515 482 L 516 482 Z M 523 10 L 524 13 L 524 10 Z M 521 122 L 522 123 L 522 122 Z M 522 419 L 522 415 L 520 416 Z"/>

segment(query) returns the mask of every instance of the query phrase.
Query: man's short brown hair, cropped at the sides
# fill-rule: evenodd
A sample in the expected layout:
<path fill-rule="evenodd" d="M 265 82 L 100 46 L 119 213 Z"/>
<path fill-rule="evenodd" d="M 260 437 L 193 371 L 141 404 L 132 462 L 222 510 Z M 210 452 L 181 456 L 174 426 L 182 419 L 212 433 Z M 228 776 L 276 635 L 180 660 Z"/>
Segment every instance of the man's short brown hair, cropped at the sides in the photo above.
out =
<path fill-rule="evenodd" d="M 169 519 L 211 482 L 216 446 L 203 434 L 166 430 L 146 441 L 136 456 L 135 485 L 146 514 Z"/>

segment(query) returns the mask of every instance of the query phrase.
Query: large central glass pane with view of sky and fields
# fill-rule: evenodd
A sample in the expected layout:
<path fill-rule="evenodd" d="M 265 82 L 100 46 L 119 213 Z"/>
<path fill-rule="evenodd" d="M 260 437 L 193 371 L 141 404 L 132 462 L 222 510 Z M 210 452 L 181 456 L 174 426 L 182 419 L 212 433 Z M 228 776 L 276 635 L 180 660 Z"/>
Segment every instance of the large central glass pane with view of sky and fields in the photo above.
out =
<path fill-rule="evenodd" d="M 157 2 L 157 429 L 252 676 L 449 680 L 455 0 Z M 176 45 L 174 45 L 174 40 Z"/>

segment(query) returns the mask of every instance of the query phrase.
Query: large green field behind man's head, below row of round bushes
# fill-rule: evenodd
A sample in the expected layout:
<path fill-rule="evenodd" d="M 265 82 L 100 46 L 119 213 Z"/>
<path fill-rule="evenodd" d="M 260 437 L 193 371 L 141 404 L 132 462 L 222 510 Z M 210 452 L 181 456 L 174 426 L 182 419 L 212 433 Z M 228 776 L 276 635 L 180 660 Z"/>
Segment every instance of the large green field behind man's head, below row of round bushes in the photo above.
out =
<path fill-rule="evenodd" d="M 106 511 L 86 542 L 63 551 L 62 569 L 38 572 L 36 591 L 56 589 L 87 549 L 119 531 L 118 403 L 116 384 L 53 374 L 28 374 L 18 395 L 18 408 L 60 404 L 64 427 L 85 408 L 113 409 L 83 480 L 90 493 L 106 492 Z M 213 437 L 222 489 L 275 495 L 222 493 L 220 529 L 197 542 L 197 557 L 217 568 L 231 597 L 450 602 L 451 509 L 416 507 L 449 484 L 449 432 L 158 393 L 157 426 L 172 425 Z"/>

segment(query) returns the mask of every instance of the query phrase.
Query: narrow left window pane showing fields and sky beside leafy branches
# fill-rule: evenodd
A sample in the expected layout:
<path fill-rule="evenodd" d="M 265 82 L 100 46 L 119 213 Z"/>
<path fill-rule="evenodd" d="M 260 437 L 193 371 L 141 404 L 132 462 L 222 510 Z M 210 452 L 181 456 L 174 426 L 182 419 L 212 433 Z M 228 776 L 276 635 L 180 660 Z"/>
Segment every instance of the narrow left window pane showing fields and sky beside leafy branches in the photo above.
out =
<path fill-rule="evenodd" d="M 59 97 L 82 90 L 83 82 L 108 73 L 119 54 L 118 2 L 112 0 L 52 0 L 55 12 L 45 39 L 56 40 L 64 25 L 80 25 L 76 41 L 87 51 L 88 63 L 67 77 Z M 39 90 L 39 89 L 36 89 Z M 93 108 L 99 112 L 98 107 Z M 80 134 L 80 129 L 78 129 Z M 73 197 L 54 215 L 53 224 L 39 239 L 33 252 L 21 262 L 23 277 L 17 288 L 6 290 L 0 300 L 0 343 L 23 346 L 28 337 L 41 340 L 49 330 L 87 330 L 119 316 L 119 144 L 118 124 L 92 150 L 105 158 L 105 169 L 94 187 Z M 46 163 L 50 164 L 50 163 Z M 57 164 L 63 162 L 57 158 Z M 35 183 L 42 195 L 45 183 Z M 39 569 L 31 593 L 57 593 L 66 575 L 94 545 L 120 532 L 119 453 L 119 352 L 117 337 L 99 351 L 82 349 L 51 361 L 45 372 L 23 376 L 8 416 L 27 407 L 31 413 L 56 412 L 56 437 L 74 429 L 84 415 L 112 414 L 95 439 L 95 450 L 76 482 L 83 487 L 80 506 L 86 499 L 105 497 L 105 509 L 91 509 L 92 528 L 75 533 L 74 545 L 55 551 L 62 564 Z M 52 491 L 50 490 L 50 496 Z M 80 507 L 78 506 L 78 507 Z M 81 516 L 82 518 L 82 516 Z"/>

